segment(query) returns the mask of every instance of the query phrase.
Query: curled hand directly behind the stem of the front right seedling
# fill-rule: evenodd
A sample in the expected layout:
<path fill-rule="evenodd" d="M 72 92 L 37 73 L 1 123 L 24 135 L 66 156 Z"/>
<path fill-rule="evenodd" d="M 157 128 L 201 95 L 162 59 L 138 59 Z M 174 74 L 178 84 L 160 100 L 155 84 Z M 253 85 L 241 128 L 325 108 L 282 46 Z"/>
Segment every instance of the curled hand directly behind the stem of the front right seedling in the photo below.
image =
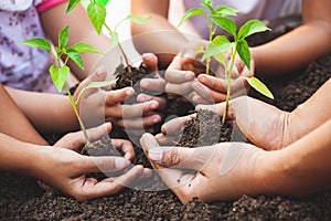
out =
<path fill-rule="evenodd" d="M 192 84 L 192 88 L 196 93 L 192 98 L 195 104 L 214 104 L 225 101 L 227 84 L 224 78 L 224 69 L 217 70 L 215 73 L 216 76 L 200 74 L 196 77 L 197 81 Z M 248 70 L 237 55 L 232 72 L 231 97 L 247 94 L 249 84 L 245 80 L 241 80 L 241 77 L 252 76 L 254 76 L 254 60 L 250 60 L 250 70 Z"/>

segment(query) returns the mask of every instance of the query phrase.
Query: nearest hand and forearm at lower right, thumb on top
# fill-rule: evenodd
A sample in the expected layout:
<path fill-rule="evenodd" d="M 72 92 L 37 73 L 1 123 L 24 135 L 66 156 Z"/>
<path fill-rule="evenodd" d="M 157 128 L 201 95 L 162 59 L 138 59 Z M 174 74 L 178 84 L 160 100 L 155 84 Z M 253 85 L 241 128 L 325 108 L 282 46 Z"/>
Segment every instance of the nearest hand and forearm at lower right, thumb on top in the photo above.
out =
<path fill-rule="evenodd" d="M 141 145 L 183 204 L 193 197 L 211 202 L 235 200 L 243 194 L 303 196 L 331 185 L 330 129 L 329 119 L 277 151 L 243 143 L 160 147 L 150 134 L 142 136 Z M 184 168 L 195 173 L 184 173 Z"/>

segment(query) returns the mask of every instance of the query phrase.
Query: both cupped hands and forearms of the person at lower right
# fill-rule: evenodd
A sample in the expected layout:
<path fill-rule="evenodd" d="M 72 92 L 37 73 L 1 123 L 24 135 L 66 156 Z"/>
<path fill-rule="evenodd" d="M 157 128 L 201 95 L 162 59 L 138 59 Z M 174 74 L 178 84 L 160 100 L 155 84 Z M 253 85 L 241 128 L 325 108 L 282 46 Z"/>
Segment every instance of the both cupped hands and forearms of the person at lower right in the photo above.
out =
<path fill-rule="evenodd" d="M 324 102 L 330 90 L 331 80 L 291 113 L 250 97 L 233 99 L 227 118 L 254 145 L 173 147 L 178 131 L 194 115 L 170 120 L 163 125 L 162 134 L 145 134 L 140 141 L 153 168 L 184 204 L 193 197 L 210 202 L 234 200 L 242 194 L 307 194 L 331 185 L 327 157 L 331 105 Z M 224 103 L 196 108 L 222 115 Z"/>

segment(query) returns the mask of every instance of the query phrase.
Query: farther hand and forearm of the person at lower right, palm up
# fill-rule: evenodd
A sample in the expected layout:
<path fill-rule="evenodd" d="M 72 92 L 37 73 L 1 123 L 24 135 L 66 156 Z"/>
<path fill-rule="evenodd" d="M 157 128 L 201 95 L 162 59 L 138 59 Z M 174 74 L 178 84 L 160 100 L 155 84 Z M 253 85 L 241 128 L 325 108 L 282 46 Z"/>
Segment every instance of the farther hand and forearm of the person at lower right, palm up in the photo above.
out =
<path fill-rule="evenodd" d="M 266 150 L 281 149 L 331 118 L 331 105 L 325 105 L 324 102 L 330 92 L 331 80 L 292 112 L 285 112 L 261 101 L 241 96 L 231 101 L 226 117 L 228 122 L 236 124 L 254 145 Z M 195 108 L 209 109 L 222 117 L 225 103 L 197 105 Z M 158 139 L 169 137 L 175 139 L 177 133 L 192 117 L 194 115 L 174 118 L 162 125 L 162 134 L 157 135 Z"/>

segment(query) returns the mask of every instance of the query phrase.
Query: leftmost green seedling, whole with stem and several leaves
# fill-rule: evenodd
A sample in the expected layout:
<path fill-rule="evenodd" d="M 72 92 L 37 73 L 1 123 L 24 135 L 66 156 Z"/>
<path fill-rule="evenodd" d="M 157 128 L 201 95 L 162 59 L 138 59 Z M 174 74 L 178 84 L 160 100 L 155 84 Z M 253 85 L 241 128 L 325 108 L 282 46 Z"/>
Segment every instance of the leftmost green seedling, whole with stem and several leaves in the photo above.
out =
<path fill-rule="evenodd" d="M 87 87 L 85 87 L 84 90 L 81 91 L 77 101 L 74 101 L 74 97 L 70 91 L 70 87 L 66 83 L 66 80 L 70 75 L 71 69 L 67 66 L 67 62 L 70 60 L 72 60 L 73 62 L 75 62 L 82 70 L 84 70 L 83 66 L 83 60 L 81 56 L 81 53 L 84 52 L 90 52 L 90 53 L 102 53 L 98 50 L 96 50 L 95 48 L 90 46 L 89 44 L 86 43 L 77 43 L 74 44 L 72 46 L 68 46 L 68 27 L 65 27 L 60 33 L 58 33 L 58 45 L 55 46 L 55 52 L 52 51 L 51 48 L 51 43 L 42 38 L 34 38 L 34 39 L 30 39 L 30 40 L 25 40 L 22 42 L 23 44 L 30 45 L 30 46 L 34 46 L 38 49 L 43 49 L 49 51 L 52 56 L 55 59 L 56 61 L 56 65 L 52 64 L 50 66 L 50 73 L 51 73 L 51 77 L 52 81 L 56 87 L 56 90 L 61 93 L 63 87 L 65 90 L 65 92 L 67 93 L 71 104 L 73 106 L 75 116 L 79 123 L 79 126 L 83 130 L 83 135 L 85 138 L 85 146 L 87 148 L 93 147 L 92 143 L 89 141 L 88 137 L 87 137 L 87 133 L 85 129 L 85 126 L 82 122 L 82 118 L 79 116 L 76 103 L 78 102 L 82 93 L 86 90 L 86 88 L 92 88 L 92 87 L 104 87 L 107 86 L 111 83 L 114 83 L 114 81 L 109 81 L 109 82 L 93 82 L 90 83 Z"/>

